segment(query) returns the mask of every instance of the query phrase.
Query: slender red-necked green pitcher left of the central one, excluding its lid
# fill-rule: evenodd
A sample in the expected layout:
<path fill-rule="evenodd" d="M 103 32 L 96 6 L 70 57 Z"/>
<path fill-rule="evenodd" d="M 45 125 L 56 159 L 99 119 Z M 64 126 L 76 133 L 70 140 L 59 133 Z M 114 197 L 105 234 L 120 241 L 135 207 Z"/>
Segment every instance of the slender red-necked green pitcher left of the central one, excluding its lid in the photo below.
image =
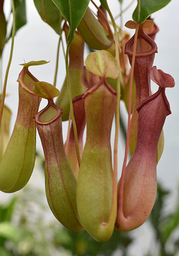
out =
<path fill-rule="evenodd" d="M 53 111 L 53 115 L 46 115 L 49 108 L 54 108 L 57 113 Z M 78 220 L 76 206 L 77 181 L 64 152 L 61 109 L 49 101 L 46 108 L 35 116 L 35 121 L 45 158 L 48 204 L 62 225 L 73 231 L 81 231 L 83 227 Z"/>

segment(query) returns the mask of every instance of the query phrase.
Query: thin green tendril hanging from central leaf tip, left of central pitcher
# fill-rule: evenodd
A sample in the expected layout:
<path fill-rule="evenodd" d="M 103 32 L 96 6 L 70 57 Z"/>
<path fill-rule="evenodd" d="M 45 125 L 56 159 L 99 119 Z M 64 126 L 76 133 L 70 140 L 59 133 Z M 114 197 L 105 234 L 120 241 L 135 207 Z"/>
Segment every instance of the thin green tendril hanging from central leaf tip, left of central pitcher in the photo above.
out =
<path fill-rule="evenodd" d="M 69 93 L 69 100 L 70 100 L 70 113 L 71 113 L 71 118 L 72 118 L 74 136 L 75 136 L 76 153 L 77 153 L 77 158 L 78 158 L 78 164 L 79 164 L 79 166 L 80 166 L 81 158 L 80 158 L 80 152 L 79 152 L 77 127 L 76 127 L 76 122 L 75 122 L 75 117 L 74 117 L 74 111 L 73 111 L 72 92 L 71 92 L 71 84 L 70 84 L 69 49 L 70 49 L 70 44 L 69 44 L 69 41 L 68 41 L 68 44 L 67 44 L 67 46 L 66 46 L 66 55 L 65 55 L 66 82 L 67 82 L 68 93 Z"/>

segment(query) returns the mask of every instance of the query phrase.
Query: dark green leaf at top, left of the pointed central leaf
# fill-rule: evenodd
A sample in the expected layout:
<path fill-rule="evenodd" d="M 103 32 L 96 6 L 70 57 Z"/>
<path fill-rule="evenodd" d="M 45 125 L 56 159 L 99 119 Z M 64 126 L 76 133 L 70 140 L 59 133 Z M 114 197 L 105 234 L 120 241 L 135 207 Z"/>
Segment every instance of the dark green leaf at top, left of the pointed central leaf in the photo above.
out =
<path fill-rule="evenodd" d="M 42 7 L 41 7 L 41 1 L 34 0 L 34 5 L 40 15 L 40 17 L 43 19 L 43 13 L 42 13 Z M 46 17 L 46 23 L 49 24 L 57 34 L 60 34 L 60 26 L 61 26 L 61 13 L 57 6 L 49 0 L 43 0 L 43 6 L 44 6 L 44 14 Z"/>

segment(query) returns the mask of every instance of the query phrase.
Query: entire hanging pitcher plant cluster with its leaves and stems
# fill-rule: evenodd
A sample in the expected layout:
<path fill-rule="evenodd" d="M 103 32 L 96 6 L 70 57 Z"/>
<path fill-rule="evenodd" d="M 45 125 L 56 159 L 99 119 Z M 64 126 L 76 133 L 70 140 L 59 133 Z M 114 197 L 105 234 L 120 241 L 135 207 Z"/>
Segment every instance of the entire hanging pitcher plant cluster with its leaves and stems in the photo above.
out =
<path fill-rule="evenodd" d="M 156 165 L 164 150 L 163 125 L 171 114 L 165 88 L 174 87 L 174 79 L 152 67 L 160 46 L 154 42 L 159 29 L 150 16 L 170 0 L 159 0 L 156 5 L 150 0 L 141 2 L 133 20 L 126 23 L 135 29 L 130 38 L 123 23 L 116 24 L 106 0 L 100 0 L 101 6 L 91 0 L 96 11 L 91 10 L 89 0 L 34 0 L 42 20 L 59 35 L 54 84 L 39 81 L 29 71 L 30 66 L 47 61 L 22 64 L 17 79 L 18 112 L 10 136 L 7 78 L 15 33 L 26 23 L 24 19 L 19 25 L 20 14 L 11 0 L 12 44 L 0 109 L 0 189 L 13 193 L 28 183 L 35 163 L 37 128 L 44 153 L 46 197 L 53 215 L 66 228 L 85 229 L 98 242 L 107 241 L 114 228 L 132 230 L 149 217 L 156 197 Z M 1 61 L 9 39 L 3 8 L 1 1 Z M 60 87 L 56 81 L 61 46 L 66 76 Z M 87 56 L 84 49 L 90 51 Z M 159 86 L 155 93 L 151 80 Z M 41 99 L 48 103 L 39 111 Z M 123 131 L 126 147 L 118 181 L 121 100 L 128 124 Z M 66 138 L 65 121 L 69 122 Z"/>

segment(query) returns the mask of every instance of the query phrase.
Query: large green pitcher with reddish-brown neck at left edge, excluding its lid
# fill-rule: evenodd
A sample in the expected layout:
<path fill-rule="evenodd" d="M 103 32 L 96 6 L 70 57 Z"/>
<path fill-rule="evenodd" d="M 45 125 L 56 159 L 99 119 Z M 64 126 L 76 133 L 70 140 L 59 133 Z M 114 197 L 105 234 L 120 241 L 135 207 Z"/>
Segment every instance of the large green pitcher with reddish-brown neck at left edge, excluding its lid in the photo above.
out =
<path fill-rule="evenodd" d="M 26 67 L 19 74 L 19 105 L 14 130 L 0 163 L 0 189 L 12 193 L 29 181 L 35 163 L 36 127 L 34 115 L 41 98 L 32 87 L 38 81 Z"/>

